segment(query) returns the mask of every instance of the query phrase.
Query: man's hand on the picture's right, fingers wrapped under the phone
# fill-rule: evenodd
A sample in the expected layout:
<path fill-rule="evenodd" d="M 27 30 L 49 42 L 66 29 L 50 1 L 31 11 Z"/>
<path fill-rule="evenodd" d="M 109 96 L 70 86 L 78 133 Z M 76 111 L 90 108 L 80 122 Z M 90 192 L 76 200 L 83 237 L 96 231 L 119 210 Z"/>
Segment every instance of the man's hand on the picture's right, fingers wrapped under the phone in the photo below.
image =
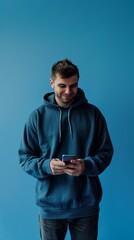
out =
<path fill-rule="evenodd" d="M 80 176 L 84 171 L 84 161 L 82 159 L 71 160 L 71 163 L 66 164 L 64 173 L 72 176 Z"/>

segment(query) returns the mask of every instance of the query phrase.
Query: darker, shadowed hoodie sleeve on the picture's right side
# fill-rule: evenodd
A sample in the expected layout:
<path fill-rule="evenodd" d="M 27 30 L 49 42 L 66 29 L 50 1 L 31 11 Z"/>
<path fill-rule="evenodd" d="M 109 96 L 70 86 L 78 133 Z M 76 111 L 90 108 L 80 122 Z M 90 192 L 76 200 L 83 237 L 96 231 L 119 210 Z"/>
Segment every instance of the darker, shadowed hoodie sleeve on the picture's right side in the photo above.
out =
<path fill-rule="evenodd" d="M 99 110 L 98 112 L 93 154 L 84 159 L 85 170 L 83 174 L 88 176 L 101 174 L 110 164 L 114 152 L 105 118 Z"/>

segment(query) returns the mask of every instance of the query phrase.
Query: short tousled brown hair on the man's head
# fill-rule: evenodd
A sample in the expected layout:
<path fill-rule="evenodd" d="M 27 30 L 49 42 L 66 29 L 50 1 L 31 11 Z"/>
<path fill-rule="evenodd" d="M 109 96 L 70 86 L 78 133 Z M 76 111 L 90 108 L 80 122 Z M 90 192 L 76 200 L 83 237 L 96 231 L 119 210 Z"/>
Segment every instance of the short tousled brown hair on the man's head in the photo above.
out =
<path fill-rule="evenodd" d="M 62 78 L 69 78 L 74 75 L 80 77 L 79 69 L 76 65 L 74 65 L 67 58 L 56 62 L 51 69 L 51 78 L 54 80 L 56 78 L 56 74 L 59 74 Z"/>

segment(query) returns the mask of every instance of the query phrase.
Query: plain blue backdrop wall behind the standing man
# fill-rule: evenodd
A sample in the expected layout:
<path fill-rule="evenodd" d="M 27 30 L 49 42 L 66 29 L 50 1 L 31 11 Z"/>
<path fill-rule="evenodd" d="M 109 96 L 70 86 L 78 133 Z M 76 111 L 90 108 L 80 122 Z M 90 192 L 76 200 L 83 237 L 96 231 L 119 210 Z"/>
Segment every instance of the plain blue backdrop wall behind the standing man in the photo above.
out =
<path fill-rule="evenodd" d="M 134 239 L 134 1 L 0 1 L 0 239 L 39 240 L 35 179 L 17 151 L 30 112 L 69 58 L 104 114 L 115 148 L 100 176 L 98 240 Z M 69 235 L 67 235 L 69 240 Z"/>

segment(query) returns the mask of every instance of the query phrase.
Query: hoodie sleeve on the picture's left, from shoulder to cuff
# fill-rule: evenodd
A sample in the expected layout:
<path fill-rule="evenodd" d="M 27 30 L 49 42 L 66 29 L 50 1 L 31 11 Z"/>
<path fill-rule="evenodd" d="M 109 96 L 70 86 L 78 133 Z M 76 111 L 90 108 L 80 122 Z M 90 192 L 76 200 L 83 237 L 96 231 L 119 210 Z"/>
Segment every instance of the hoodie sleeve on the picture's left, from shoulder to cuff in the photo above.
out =
<path fill-rule="evenodd" d="M 25 124 L 18 153 L 22 169 L 35 178 L 44 179 L 48 177 L 49 174 L 52 174 L 50 168 L 51 159 L 46 159 L 42 156 L 39 147 L 36 121 L 36 114 L 31 114 Z"/>

